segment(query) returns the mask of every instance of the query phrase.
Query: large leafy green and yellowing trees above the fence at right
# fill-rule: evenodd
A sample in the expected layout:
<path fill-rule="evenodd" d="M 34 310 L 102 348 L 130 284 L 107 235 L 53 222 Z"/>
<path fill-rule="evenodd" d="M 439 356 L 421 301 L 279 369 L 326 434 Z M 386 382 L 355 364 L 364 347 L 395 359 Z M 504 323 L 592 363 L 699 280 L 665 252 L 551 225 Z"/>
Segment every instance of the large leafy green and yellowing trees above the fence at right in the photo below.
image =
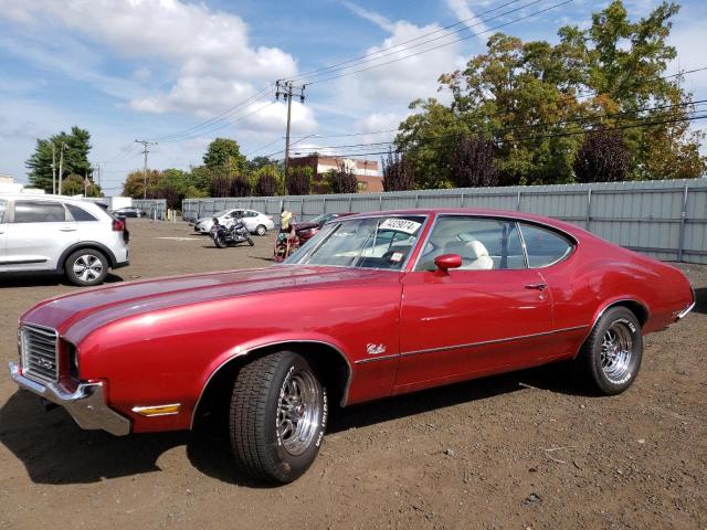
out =
<path fill-rule="evenodd" d="M 692 94 L 665 76 L 675 57 L 666 40 L 678 6 L 663 2 L 632 21 L 615 0 L 585 30 L 564 26 L 558 44 L 497 33 L 463 71 L 440 77 L 452 102 L 416 100 L 395 142 L 419 188 L 454 184 L 460 138 L 493 141 L 503 184 L 576 181 L 584 135 L 621 129 L 631 179 L 698 177 L 701 132 L 690 129 Z"/>

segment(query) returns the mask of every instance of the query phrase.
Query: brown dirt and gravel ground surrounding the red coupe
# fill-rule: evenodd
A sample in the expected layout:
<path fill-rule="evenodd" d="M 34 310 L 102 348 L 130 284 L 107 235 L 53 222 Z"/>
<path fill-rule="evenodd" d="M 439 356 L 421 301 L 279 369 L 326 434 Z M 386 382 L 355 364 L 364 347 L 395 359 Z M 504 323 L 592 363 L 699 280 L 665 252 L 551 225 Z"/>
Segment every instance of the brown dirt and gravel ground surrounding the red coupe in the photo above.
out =
<path fill-rule="evenodd" d="M 133 265 L 110 280 L 263 266 L 272 252 L 272 236 L 217 250 L 182 223 L 129 226 Z M 550 367 L 339 411 L 285 487 L 241 485 L 213 432 L 84 432 L 0 375 L 0 529 L 705 529 L 707 267 L 682 268 L 700 305 L 646 338 L 623 395 L 583 395 Z M 74 287 L 0 282 L 6 367 L 20 314 Z"/>

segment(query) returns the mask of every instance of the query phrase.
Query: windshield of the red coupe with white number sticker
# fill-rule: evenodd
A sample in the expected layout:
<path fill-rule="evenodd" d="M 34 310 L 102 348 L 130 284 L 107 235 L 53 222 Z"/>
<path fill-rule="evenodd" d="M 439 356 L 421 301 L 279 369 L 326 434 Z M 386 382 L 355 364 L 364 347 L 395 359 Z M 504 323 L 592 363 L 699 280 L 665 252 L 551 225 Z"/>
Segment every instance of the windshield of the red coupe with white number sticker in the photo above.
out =
<path fill-rule="evenodd" d="M 421 215 L 391 215 L 330 223 L 285 263 L 399 271 L 424 221 Z"/>

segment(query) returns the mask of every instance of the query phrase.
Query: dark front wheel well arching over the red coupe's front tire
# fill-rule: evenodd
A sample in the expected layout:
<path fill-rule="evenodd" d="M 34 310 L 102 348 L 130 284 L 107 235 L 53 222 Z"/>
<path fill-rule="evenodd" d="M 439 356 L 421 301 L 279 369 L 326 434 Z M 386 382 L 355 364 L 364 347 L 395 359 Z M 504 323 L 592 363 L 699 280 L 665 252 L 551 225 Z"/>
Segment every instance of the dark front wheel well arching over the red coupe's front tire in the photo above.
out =
<path fill-rule="evenodd" d="M 306 358 L 327 389 L 329 403 L 345 404 L 345 394 L 348 392 L 351 369 L 348 361 L 344 358 L 344 353 L 321 342 L 281 342 L 251 350 L 247 354 L 235 357 L 218 368 L 215 373 L 207 382 L 197 402 L 191 421 L 192 428 L 200 418 L 221 415 L 222 412 L 228 410 L 233 390 L 233 381 L 243 365 L 257 358 L 282 350 L 295 351 Z"/>

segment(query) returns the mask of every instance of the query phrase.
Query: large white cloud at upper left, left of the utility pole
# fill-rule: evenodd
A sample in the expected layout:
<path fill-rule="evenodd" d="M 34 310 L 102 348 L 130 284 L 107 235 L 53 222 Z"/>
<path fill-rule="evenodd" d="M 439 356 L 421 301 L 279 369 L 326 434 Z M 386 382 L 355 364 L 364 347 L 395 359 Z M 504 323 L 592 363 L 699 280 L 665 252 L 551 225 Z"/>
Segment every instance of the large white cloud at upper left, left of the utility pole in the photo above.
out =
<path fill-rule="evenodd" d="M 180 0 L 2 3 L 11 6 L 0 10 L 0 18 L 23 25 L 30 34 L 63 25 L 138 62 L 138 72 L 146 72 L 151 61 L 171 68 L 176 81 L 168 91 L 128 96 L 130 106 L 141 112 L 213 115 L 223 110 L 224 102 L 232 106 L 267 82 L 296 74 L 289 54 L 277 47 L 252 46 L 247 25 L 240 17 L 204 4 Z"/>

